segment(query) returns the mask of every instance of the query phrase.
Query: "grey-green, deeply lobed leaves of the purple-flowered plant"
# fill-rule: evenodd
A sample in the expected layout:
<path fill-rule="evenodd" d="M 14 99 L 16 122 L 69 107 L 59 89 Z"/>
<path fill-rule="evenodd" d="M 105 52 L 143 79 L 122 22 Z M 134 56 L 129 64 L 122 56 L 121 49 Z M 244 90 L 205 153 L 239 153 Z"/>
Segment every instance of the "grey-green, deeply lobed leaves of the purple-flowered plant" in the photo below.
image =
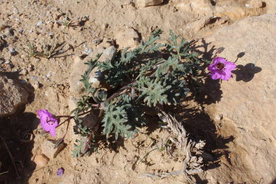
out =
<path fill-rule="evenodd" d="M 198 74 L 204 70 L 202 65 L 205 60 L 192 51 L 190 42 L 172 31 L 166 44 L 157 43 L 160 34 L 161 30 L 154 31 L 139 47 L 133 50 L 125 48 L 113 60 L 99 61 L 98 55 L 95 60 L 86 63 L 88 68 L 81 81 L 87 96 L 75 109 L 75 133 L 90 139 L 84 139 L 85 142 L 78 140 L 74 155 L 84 155 L 81 150 L 89 150 L 78 146 L 87 148 L 88 145 L 92 148 L 91 144 L 95 143 L 93 129 L 82 124 L 79 113 L 99 108 L 97 123 L 103 127 L 102 133 L 107 137 L 114 134 L 116 139 L 119 136 L 129 138 L 138 132 L 136 127 L 146 125 L 145 106 L 176 105 L 187 95 L 189 86 L 195 86 L 191 84 L 196 84 Z M 104 74 L 102 77 L 110 88 L 108 91 L 99 93 L 99 89 L 89 83 L 89 73 L 95 67 Z"/>

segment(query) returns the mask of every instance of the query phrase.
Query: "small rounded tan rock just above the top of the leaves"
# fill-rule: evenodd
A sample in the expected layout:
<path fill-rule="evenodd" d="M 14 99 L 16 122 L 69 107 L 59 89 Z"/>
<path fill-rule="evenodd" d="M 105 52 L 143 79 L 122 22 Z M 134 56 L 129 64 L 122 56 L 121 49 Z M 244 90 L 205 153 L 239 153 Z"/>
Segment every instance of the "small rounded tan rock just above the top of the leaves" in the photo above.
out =
<path fill-rule="evenodd" d="M 130 47 L 134 49 L 140 44 L 140 37 L 133 28 L 127 28 L 126 30 L 119 31 L 115 34 L 116 42 L 121 49 Z"/>

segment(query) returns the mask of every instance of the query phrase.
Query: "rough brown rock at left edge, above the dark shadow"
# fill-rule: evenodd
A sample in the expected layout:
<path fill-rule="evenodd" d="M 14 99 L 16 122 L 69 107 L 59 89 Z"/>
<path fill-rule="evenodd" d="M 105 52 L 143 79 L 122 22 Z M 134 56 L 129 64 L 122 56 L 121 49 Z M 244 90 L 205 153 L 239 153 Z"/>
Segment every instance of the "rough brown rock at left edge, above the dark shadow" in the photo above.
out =
<path fill-rule="evenodd" d="M 0 76 L 0 118 L 11 116 L 28 102 L 28 93 L 19 84 Z"/>

